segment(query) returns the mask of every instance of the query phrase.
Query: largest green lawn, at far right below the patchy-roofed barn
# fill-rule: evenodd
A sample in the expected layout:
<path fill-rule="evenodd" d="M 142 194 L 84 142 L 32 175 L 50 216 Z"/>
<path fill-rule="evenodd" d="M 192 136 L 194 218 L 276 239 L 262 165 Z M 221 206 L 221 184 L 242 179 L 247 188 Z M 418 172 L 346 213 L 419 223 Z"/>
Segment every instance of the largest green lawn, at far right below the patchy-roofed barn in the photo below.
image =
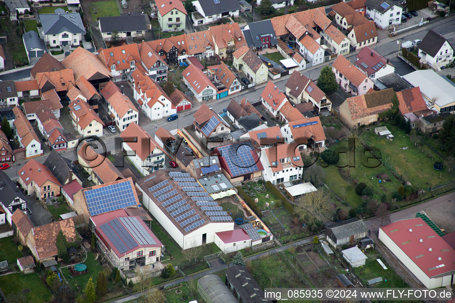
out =
<path fill-rule="evenodd" d="M 444 160 L 428 146 L 415 147 L 403 130 L 390 124 L 387 124 L 387 128 L 394 135 L 393 141 L 374 134 L 374 128 L 366 132 L 364 140 L 379 149 L 383 161 L 391 165 L 398 176 L 403 175 L 405 181 L 409 181 L 418 189 L 425 190 L 429 186 L 451 181 L 448 168 L 444 167 L 442 171 L 433 168 L 436 161 L 444 162 Z M 408 147 L 408 149 L 401 149 L 402 147 Z M 431 157 L 428 157 L 429 154 Z"/>

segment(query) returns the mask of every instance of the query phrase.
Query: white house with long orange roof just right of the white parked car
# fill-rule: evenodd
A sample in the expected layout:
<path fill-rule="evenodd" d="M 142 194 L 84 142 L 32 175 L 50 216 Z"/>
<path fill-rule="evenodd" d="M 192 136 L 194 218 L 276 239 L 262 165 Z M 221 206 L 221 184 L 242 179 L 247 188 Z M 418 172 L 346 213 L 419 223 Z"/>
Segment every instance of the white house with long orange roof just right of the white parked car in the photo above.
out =
<path fill-rule="evenodd" d="M 115 121 L 120 131 L 124 131 L 132 122 L 138 123 L 139 112 L 136 106 L 125 94 L 121 93 L 114 82 L 109 81 L 100 92 L 106 100 L 107 113 Z"/>

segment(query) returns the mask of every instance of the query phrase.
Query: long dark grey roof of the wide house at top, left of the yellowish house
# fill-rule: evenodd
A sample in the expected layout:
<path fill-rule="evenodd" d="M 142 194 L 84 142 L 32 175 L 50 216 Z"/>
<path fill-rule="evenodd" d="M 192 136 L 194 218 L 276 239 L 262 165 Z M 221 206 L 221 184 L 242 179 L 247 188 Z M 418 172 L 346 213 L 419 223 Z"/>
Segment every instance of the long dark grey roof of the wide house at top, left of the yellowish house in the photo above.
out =
<path fill-rule="evenodd" d="M 145 15 L 122 15 L 100 17 L 101 33 L 111 33 L 116 29 L 119 32 L 147 30 Z"/>

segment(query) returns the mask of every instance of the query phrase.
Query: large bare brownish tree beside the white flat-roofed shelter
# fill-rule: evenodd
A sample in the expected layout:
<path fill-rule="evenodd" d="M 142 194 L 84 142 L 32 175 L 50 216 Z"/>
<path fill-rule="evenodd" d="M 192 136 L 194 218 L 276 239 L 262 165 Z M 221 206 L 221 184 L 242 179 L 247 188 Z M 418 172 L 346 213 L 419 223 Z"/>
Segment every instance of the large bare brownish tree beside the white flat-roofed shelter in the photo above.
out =
<path fill-rule="evenodd" d="M 324 188 L 304 194 L 297 202 L 295 213 L 308 225 L 317 225 L 329 219 L 334 211 L 329 193 Z"/>

